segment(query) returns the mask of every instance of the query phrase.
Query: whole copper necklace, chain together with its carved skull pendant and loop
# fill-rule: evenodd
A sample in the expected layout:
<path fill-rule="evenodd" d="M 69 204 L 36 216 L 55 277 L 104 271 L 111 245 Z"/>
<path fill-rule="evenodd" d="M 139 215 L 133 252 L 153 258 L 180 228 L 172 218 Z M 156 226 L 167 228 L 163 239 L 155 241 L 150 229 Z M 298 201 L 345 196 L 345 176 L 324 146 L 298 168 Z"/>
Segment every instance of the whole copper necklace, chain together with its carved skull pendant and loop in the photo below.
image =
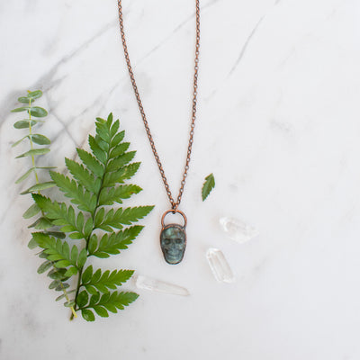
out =
<path fill-rule="evenodd" d="M 190 133 L 189 133 L 189 144 L 187 147 L 187 156 L 184 166 L 184 174 L 181 181 L 179 193 L 177 195 L 176 202 L 173 198 L 173 195 L 170 191 L 169 184 L 167 183 L 166 175 L 163 169 L 163 166 L 161 164 L 160 158 L 157 155 L 157 148 L 155 147 L 154 139 L 152 138 L 150 129 L 148 127 L 148 120 L 144 112 L 144 107 L 141 103 L 141 99 L 139 96 L 139 90 L 138 86 L 136 85 L 135 76 L 132 71 L 131 63 L 130 63 L 130 57 L 129 57 L 129 51 L 126 44 L 125 39 L 125 31 L 123 26 L 123 17 L 122 17 L 122 7 L 121 7 L 121 0 L 118 0 L 118 7 L 119 7 L 119 23 L 120 23 L 120 32 L 121 32 L 121 41 L 122 41 L 122 47 L 124 50 L 124 55 L 126 59 L 126 64 L 129 70 L 130 80 L 132 84 L 132 88 L 134 89 L 134 93 L 136 96 L 136 100 L 139 104 L 139 111 L 141 113 L 142 121 L 144 122 L 145 130 L 148 134 L 148 141 L 150 142 L 150 146 L 152 149 L 152 152 L 154 154 L 155 160 L 157 161 L 157 167 L 160 171 L 160 175 L 163 179 L 163 183 L 166 188 L 167 197 L 169 199 L 169 202 L 171 204 L 171 210 L 166 211 L 161 219 L 161 233 L 160 233 L 160 246 L 163 251 L 165 260 L 168 264 L 178 264 L 181 262 L 181 260 L 184 257 L 184 251 L 186 247 L 186 233 L 185 233 L 185 227 L 186 227 L 186 216 L 184 215 L 183 211 L 178 210 L 178 206 L 180 205 L 181 198 L 184 193 L 184 185 L 185 180 L 187 176 L 187 171 L 189 170 L 189 163 L 193 148 L 193 130 L 195 127 L 195 120 L 196 120 L 196 103 L 197 103 L 197 78 L 198 78 L 198 64 L 199 64 L 199 48 L 200 48 L 200 0 L 195 0 L 196 3 L 196 42 L 195 42 L 195 58 L 194 58 L 194 73 L 193 73 L 193 111 L 192 111 L 192 121 L 190 126 Z M 169 212 L 172 213 L 179 213 L 184 218 L 184 225 L 178 225 L 178 224 L 164 224 L 164 219 L 166 217 L 166 214 Z"/>

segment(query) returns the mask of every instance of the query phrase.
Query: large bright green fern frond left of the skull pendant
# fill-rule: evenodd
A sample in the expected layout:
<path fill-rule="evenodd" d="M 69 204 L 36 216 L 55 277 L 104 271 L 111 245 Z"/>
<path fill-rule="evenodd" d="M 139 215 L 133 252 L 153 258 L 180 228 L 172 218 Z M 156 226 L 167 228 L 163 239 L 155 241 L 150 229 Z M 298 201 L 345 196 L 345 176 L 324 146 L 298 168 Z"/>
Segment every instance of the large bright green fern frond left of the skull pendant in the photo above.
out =
<path fill-rule="evenodd" d="M 130 144 L 123 142 L 125 133 L 118 131 L 120 123 L 112 121 L 112 114 L 107 120 L 97 118 L 95 125 L 96 135 L 89 136 L 91 153 L 77 148 L 79 162 L 66 158 L 70 175 L 50 171 L 52 182 L 38 186 L 42 190 L 46 184 L 55 184 L 72 204 L 32 192 L 35 204 L 25 212 L 27 218 L 41 214 L 31 224 L 42 230 L 32 233 L 30 244 L 40 247 L 40 257 L 45 259 L 38 272 L 49 271 L 49 288 L 64 292 L 57 300 L 65 299 L 64 305 L 72 307 L 73 313 L 81 311 L 87 321 L 94 321 L 94 313 L 108 317 L 108 311 L 122 310 L 137 299 L 136 293 L 118 291 L 133 270 L 94 270 L 87 262 L 89 257 L 110 257 L 126 249 L 143 229 L 135 223 L 153 209 L 109 209 L 109 205 L 121 204 L 142 190 L 135 184 L 124 184 L 139 163 L 130 163 L 135 151 L 126 152 Z M 75 276 L 76 287 L 65 290 L 74 284 Z"/>

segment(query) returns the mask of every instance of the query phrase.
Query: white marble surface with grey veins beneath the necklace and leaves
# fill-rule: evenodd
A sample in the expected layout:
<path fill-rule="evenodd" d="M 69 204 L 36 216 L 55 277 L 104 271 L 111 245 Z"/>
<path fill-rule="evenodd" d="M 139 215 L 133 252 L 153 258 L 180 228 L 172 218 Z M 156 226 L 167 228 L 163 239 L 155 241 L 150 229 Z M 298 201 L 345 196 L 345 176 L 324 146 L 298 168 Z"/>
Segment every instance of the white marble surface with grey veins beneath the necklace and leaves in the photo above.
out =
<path fill-rule="evenodd" d="M 130 56 L 173 191 L 190 118 L 193 0 L 124 0 Z M 182 209 L 184 262 L 158 247 L 167 210 L 130 87 L 115 0 L 0 2 L 0 358 L 358 360 L 360 358 L 360 3 L 356 0 L 202 0 L 199 112 Z M 94 117 L 121 118 L 142 166 L 134 203 L 156 209 L 121 256 L 99 266 L 183 285 L 191 296 L 141 291 L 109 319 L 69 322 L 26 247 L 31 203 L 11 148 L 9 110 L 42 89 L 51 164 L 85 146 Z M 216 189 L 202 203 L 202 179 Z M 221 216 L 261 235 L 231 242 Z M 236 276 L 217 284 L 220 248 Z M 97 263 L 96 263 L 97 264 Z M 133 289 L 129 284 L 128 289 Z"/>

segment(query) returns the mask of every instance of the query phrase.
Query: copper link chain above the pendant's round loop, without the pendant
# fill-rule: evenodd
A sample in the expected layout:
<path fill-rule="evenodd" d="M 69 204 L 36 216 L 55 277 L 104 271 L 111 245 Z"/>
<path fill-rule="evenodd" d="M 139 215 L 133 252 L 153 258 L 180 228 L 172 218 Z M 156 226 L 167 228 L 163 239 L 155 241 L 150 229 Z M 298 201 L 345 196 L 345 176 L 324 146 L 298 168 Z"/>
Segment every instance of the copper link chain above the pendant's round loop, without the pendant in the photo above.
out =
<path fill-rule="evenodd" d="M 193 132 L 194 132 L 193 130 L 195 127 L 195 120 L 196 120 L 197 77 L 198 77 L 198 70 L 199 70 L 199 48 L 200 48 L 200 0 L 195 0 L 195 1 L 196 1 L 196 44 L 195 44 L 195 59 L 194 59 L 195 65 L 194 65 L 194 73 L 193 73 L 193 112 L 192 112 L 192 121 L 191 121 L 191 126 L 190 126 L 190 133 L 189 133 L 189 145 L 187 147 L 187 156 L 186 156 L 186 162 L 185 162 L 185 166 L 184 166 L 184 174 L 183 174 L 183 179 L 181 181 L 179 193 L 177 195 L 177 200 L 175 202 L 173 195 L 171 194 L 169 184 L 167 183 L 166 175 L 165 175 L 163 166 L 161 164 L 160 158 L 157 155 L 157 148 L 155 147 L 154 139 L 152 139 L 152 135 L 151 135 L 150 129 L 148 127 L 148 120 L 145 115 L 144 107 L 141 103 L 141 99 L 139 96 L 139 90 L 138 90 L 138 86 L 136 85 L 134 73 L 132 71 L 130 57 L 129 57 L 129 51 L 128 51 L 128 47 L 126 45 L 126 40 L 125 40 L 121 0 L 118 0 L 121 41 L 122 41 L 122 46 L 123 46 L 124 55 L 125 55 L 125 59 L 126 59 L 126 64 L 129 69 L 129 75 L 130 75 L 130 79 L 131 79 L 132 88 L 134 89 L 136 100 L 138 101 L 138 104 L 139 104 L 139 111 L 141 113 L 142 121 L 144 122 L 145 130 L 148 134 L 148 140 L 150 142 L 150 146 L 151 146 L 152 152 L 154 154 L 154 157 L 157 161 L 157 166 L 158 166 L 158 169 L 160 171 L 161 177 L 163 179 L 163 182 L 164 182 L 164 185 L 166 188 L 167 197 L 171 203 L 171 207 L 173 210 L 177 210 L 177 208 L 181 202 L 183 193 L 184 193 L 184 185 L 185 185 L 185 180 L 186 180 L 186 176 L 187 176 L 187 171 L 189 170 L 190 158 L 191 158 L 191 153 L 192 153 L 192 148 L 193 148 Z"/>

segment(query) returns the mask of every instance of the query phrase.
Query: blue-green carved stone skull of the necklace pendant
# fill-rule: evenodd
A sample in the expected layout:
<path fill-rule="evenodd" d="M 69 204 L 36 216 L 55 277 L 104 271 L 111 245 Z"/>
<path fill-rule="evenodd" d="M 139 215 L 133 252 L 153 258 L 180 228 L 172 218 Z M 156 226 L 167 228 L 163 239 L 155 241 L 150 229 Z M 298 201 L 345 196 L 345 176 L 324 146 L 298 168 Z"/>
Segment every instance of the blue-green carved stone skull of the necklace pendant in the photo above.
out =
<path fill-rule="evenodd" d="M 186 247 L 185 229 L 177 224 L 166 225 L 160 234 L 160 245 L 166 263 L 180 263 L 183 260 Z"/>

